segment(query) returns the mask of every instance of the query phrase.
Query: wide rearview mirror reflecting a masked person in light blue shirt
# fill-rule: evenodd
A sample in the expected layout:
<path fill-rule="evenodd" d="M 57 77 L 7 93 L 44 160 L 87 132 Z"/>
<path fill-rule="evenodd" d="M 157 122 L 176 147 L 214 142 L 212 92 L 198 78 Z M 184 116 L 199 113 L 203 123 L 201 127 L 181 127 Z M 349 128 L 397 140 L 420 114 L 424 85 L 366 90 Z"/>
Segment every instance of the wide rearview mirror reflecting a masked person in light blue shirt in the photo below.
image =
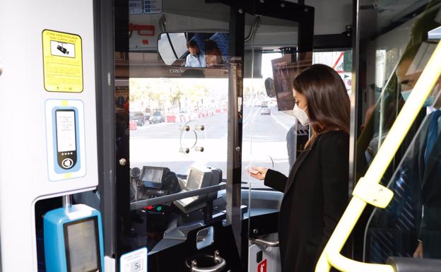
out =
<path fill-rule="evenodd" d="M 226 32 L 163 32 L 158 54 L 167 66 L 228 69 L 229 40 Z"/>

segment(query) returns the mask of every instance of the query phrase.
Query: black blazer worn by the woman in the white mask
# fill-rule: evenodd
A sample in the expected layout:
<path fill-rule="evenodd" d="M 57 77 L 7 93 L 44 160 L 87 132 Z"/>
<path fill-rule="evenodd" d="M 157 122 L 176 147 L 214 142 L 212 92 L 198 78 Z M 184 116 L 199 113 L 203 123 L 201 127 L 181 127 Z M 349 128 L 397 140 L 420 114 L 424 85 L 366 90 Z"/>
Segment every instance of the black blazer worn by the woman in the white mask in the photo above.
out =
<path fill-rule="evenodd" d="M 284 193 L 278 222 L 283 272 L 312 272 L 348 204 L 349 136 L 329 131 L 295 161 L 289 177 L 268 170 Z"/>

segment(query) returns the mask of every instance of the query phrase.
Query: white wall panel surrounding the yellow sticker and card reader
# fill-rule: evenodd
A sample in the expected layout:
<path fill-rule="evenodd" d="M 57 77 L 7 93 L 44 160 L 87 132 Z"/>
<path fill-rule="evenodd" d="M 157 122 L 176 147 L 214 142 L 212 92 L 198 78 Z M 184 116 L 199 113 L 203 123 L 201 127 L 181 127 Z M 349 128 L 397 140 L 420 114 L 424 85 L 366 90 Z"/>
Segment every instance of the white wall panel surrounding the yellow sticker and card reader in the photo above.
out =
<path fill-rule="evenodd" d="M 44 88 L 42 31 L 81 36 L 83 92 Z M 34 201 L 98 184 L 93 1 L 0 1 L 0 236 L 3 271 L 37 271 Z M 50 182 L 45 101 L 82 100 L 86 175 Z M 19 268 L 18 268 L 19 266 Z"/>

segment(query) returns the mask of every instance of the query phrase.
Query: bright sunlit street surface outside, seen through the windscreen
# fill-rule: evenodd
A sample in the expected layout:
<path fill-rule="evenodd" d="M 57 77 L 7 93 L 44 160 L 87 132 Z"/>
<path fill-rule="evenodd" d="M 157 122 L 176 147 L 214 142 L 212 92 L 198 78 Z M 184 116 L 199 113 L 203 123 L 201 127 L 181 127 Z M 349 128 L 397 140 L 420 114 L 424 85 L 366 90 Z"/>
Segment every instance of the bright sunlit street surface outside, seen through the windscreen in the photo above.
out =
<path fill-rule="evenodd" d="M 264 187 L 263 182 L 249 177 L 247 165 L 268 167 L 288 175 L 288 152 L 286 133 L 295 119 L 276 107 L 271 114 L 262 115 L 261 107 L 244 107 L 242 141 L 242 182 L 251 182 L 252 188 Z M 196 115 L 197 116 L 197 115 Z M 196 164 L 209 165 L 227 174 L 227 113 L 215 113 L 190 122 L 145 124 L 130 131 L 130 167 L 143 165 L 168 167 L 173 172 L 187 175 L 189 167 Z M 188 124 L 192 129 L 204 125 L 204 131 L 182 131 Z M 182 135 L 182 137 L 181 137 Z M 197 137 L 197 141 L 196 141 Z M 204 152 L 193 146 L 204 147 Z M 188 154 L 181 148 L 190 148 Z M 246 184 L 245 184 L 246 185 Z"/>

